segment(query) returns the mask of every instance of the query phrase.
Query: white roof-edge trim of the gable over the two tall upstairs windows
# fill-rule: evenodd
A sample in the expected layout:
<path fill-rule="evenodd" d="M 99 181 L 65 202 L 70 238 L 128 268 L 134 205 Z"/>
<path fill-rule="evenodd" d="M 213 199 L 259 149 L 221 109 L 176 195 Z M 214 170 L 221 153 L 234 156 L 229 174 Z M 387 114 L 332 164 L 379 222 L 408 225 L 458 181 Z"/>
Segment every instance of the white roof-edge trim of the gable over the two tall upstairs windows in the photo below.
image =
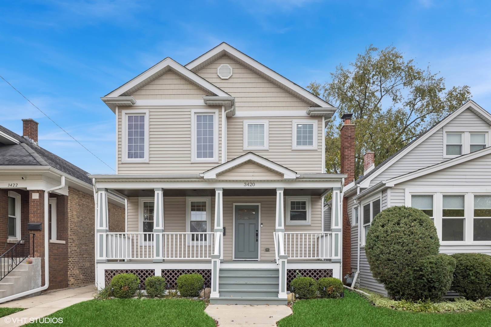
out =
<path fill-rule="evenodd" d="M 229 97 L 230 95 L 217 86 L 213 85 L 203 77 L 194 74 L 189 69 L 185 68 L 183 65 L 174 61 L 172 58 L 166 57 L 161 62 L 157 63 L 153 67 L 147 69 L 140 75 L 131 79 L 130 81 L 124 83 L 114 91 L 109 92 L 106 96 L 102 97 L 101 100 L 104 101 L 112 111 L 115 111 L 115 106 L 117 105 L 132 105 L 135 104 L 135 99 L 131 96 L 136 90 L 141 88 L 143 85 L 148 84 L 157 77 L 165 74 L 168 71 L 172 71 L 175 74 L 183 77 L 187 81 L 196 85 L 197 87 L 203 89 L 205 92 L 212 96 L 218 97 Z"/>

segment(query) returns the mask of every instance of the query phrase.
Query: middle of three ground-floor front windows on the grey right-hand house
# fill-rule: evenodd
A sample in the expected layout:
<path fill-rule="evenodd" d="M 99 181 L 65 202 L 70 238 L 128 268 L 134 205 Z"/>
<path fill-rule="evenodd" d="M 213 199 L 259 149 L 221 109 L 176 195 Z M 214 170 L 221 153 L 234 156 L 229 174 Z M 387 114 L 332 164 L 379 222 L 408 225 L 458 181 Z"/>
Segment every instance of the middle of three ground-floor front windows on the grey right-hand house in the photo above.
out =
<path fill-rule="evenodd" d="M 443 195 L 441 240 L 464 241 L 465 196 Z"/>

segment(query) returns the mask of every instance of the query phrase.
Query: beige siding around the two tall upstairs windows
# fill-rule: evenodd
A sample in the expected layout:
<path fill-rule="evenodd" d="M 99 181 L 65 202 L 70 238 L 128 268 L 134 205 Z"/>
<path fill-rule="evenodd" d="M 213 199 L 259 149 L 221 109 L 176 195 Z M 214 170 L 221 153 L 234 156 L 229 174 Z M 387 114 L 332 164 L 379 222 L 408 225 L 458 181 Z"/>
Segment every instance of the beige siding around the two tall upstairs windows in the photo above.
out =
<path fill-rule="evenodd" d="M 121 110 L 118 110 L 118 174 L 199 174 L 219 165 L 221 160 L 221 107 L 218 109 L 218 162 L 191 163 L 191 109 L 214 107 L 137 107 L 150 115 L 149 162 L 122 163 Z"/>

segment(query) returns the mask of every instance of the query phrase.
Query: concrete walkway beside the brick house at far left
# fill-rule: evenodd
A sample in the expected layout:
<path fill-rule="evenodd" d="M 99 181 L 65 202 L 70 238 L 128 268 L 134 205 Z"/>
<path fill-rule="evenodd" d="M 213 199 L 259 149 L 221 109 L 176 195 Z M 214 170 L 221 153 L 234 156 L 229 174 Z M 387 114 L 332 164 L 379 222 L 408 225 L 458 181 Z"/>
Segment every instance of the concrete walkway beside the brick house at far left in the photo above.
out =
<path fill-rule="evenodd" d="M 69 288 L 1 303 L 0 307 L 26 308 L 26 310 L 1 317 L 0 327 L 22 326 L 29 323 L 29 318 L 45 317 L 72 304 L 92 300 L 94 288 L 93 285 Z"/>

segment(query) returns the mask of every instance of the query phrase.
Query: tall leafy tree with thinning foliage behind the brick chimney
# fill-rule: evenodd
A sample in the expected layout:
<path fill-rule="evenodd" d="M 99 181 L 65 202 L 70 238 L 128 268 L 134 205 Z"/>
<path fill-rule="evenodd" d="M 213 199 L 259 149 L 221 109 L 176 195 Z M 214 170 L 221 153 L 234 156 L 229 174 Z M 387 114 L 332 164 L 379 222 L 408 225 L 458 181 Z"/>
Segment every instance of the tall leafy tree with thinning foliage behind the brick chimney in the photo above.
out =
<path fill-rule="evenodd" d="M 363 174 L 363 154 L 375 152 L 380 164 L 437 121 L 458 109 L 471 97 L 469 87 L 446 89 L 444 78 L 416 67 L 393 46 L 370 45 L 358 54 L 350 68 L 342 65 L 325 84 L 311 82 L 307 88 L 337 106 L 327 126 L 326 169 L 339 173 L 339 131 L 344 113 L 353 113 L 355 130 L 355 176 Z"/>

